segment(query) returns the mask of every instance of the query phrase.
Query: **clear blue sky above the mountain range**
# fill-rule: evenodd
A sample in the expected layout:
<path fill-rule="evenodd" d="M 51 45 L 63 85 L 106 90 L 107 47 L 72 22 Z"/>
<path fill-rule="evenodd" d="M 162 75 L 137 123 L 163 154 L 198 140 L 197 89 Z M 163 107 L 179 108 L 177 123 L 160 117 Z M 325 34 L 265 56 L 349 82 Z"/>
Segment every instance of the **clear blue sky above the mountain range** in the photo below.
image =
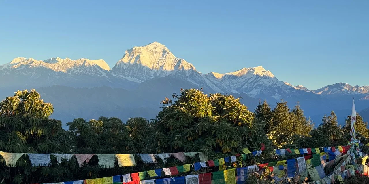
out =
<path fill-rule="evenodd" d="M 15 57 L 104 59 L 157 41 L 198 71 L 262 65 L 318 89 L 369 85 L 369 1 L 0 2 L 0 64 Z"/>

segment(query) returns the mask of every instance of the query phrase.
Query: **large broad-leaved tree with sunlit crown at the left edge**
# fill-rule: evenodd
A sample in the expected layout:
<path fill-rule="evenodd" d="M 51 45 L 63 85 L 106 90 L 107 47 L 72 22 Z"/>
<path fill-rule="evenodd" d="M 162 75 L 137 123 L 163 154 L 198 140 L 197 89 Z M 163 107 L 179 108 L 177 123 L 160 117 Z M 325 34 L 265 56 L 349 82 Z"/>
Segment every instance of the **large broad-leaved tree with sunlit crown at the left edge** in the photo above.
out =
<path fill-rule="evenodd" d="M 17 91 L 0 103 L 0 150 L 15 153 L 69 153 L 73 140 L 63 130 L 61 121 L 49 118 L 54 112 L 51 103 L 41 100 L 39 93 Z M 69 178 L 73 164 L 31 167 L 28 156 L 17 162 L 18 167 L 6 167 L 1 158 L 0 178 L 5 183 L 44 183 L 49 178 Z"/>

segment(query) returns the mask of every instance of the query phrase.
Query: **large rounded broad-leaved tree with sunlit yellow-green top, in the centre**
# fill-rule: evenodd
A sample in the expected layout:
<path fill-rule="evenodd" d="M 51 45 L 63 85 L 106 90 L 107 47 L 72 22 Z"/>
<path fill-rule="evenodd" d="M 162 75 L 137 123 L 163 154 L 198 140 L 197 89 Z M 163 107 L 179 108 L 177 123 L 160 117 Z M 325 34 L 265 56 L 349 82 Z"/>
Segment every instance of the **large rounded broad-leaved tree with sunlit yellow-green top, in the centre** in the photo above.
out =
<path fill-rule="evenodd" d="M 239 99 L 197 89 L 183 90 L 175 98 L 155 118 L 157 152 L 203 151 L 216 158 L 242 153 L 246 147 L 259 149 L 261 143 L 272 149 L 264 124 Z"/>

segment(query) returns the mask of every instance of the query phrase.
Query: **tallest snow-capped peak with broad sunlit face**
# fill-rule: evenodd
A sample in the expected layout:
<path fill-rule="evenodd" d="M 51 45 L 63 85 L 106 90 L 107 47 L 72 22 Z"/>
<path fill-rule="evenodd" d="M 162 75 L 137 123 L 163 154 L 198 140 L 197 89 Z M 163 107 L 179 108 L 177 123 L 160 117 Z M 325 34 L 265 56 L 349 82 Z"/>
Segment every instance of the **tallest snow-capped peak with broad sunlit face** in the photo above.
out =
<path fill-rule="evenodd" d="M 165 45 L 158 42 L 126 50 L 111 72 L 134 82 L 168 75 L 189 77 L 198 73 L 191 63 L 175 57 Z"/>

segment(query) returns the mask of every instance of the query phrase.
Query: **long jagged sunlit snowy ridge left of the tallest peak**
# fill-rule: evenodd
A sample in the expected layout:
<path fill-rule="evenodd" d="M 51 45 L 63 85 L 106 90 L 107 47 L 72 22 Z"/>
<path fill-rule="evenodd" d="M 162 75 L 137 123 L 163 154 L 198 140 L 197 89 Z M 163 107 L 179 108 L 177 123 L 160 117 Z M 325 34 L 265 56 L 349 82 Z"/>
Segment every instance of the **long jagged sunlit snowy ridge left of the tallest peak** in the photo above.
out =
<path fill-rule="evenodd" d="M 94 87 L 105 84 L 127 84 L 109 72 L 100 60 L 59 57 L 47 60 L 18 57 L 0 66 L 0 88 L 37 88 L 52 85 Z"/>

